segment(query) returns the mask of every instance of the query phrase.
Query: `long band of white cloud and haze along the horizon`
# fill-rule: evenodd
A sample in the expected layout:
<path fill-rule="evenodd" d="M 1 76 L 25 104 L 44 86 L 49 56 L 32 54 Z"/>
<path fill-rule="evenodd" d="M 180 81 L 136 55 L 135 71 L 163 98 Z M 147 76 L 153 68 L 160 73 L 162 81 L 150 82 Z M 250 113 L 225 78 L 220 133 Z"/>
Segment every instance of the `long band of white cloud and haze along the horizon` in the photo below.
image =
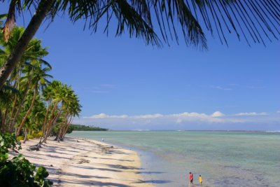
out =
<path fill-rule="evenodd" d="M 152 113 L 144 115 L 109 115 L 99 113 L 89 117 L 75 118 L 75 124 L 95 125 L 112 130 L 256 130 L 280 127 L 280 115 L 277 113 L 243 112 L 225 115 L 221 111 L 214 113 Z M 248 128 L 246 128 L 248 127 Z"/>

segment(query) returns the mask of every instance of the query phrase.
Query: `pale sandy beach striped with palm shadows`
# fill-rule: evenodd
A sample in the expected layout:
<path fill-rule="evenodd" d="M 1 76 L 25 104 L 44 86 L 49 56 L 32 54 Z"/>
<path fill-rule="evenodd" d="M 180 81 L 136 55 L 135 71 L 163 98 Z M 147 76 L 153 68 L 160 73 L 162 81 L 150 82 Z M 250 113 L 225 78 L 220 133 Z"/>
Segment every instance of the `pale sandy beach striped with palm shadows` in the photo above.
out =
<path fill-rule="evenodd" d="M 27 151 L 37 143 L 38 139 L 27 141 L 20 153 L 34 165 L 46 167 L 53 186 L 153 186 L 141 176 L 135 151 L 70 137 L 60 142 L 50 139 L 40 151 Z"/>

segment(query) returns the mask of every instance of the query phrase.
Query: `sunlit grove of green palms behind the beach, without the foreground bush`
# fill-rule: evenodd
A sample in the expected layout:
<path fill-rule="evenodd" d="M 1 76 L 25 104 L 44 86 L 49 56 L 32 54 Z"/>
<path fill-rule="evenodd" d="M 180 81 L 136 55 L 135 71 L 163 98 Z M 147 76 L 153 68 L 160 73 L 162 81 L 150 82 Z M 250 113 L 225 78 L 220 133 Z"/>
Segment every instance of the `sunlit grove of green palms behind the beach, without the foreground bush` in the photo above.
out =
<path fill-rule="evenodd" d="M 25 29 L 14 27 L 6 42 L 0 36 L 0 65 L 5 62 Z M 0 132 L 16 137 L 42 137 L 47 141 L 54 127 L 57 140 L 64 139 L 74 116 L 80 112 L 78 96 L 71 86 L 50 81 L 50 63 L 43 60 L 48 49 L 41 40 L 31 39 L 5 86 L 0 90 Z"/>

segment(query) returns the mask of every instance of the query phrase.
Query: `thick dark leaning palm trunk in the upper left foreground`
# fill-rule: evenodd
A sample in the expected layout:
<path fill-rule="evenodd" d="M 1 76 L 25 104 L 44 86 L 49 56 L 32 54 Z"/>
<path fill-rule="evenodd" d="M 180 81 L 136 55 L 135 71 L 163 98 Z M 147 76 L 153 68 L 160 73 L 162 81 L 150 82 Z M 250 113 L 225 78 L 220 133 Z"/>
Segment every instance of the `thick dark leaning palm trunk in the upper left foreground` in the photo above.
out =
<path fill-rule="evenodd" d="M 10 76 L 10 73 L 20 61 L 20 58 L 25 52 L 29 41 L 36 34 L 38 28 L 45 19 L 45 16 L 50 11 L 54 1 L 55 0 L 41 0 L 38 4 L 38 8 L 34 16 L 31 18 L 27 29 L 25 29 L 25 32 L 22 34 L 18 44 L 13 49 L 13 52 L 8 57 L 8 60 L 5 62 L 5 64 L 3 64 L 3 67 L 0 69 L 0 90 L 2 89 L 3 84 L 7 80 L 8 76 Z"/>

